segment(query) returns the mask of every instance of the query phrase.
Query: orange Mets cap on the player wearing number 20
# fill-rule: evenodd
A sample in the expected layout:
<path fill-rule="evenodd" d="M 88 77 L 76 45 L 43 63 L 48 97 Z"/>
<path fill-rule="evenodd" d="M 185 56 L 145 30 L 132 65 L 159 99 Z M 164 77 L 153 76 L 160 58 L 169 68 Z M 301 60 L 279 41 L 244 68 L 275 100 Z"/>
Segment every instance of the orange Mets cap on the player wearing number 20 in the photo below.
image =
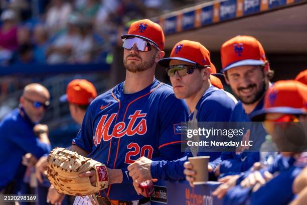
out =
<path fill-rule="evenodd" d="M 161 26 L 148 19 L 133 22 L 127 34 L 122 35 L 120 38 L 125 39 L 128 37 L 141 38 L 155 44 L 161 50 L 164 49 L 164 33 Z"/>

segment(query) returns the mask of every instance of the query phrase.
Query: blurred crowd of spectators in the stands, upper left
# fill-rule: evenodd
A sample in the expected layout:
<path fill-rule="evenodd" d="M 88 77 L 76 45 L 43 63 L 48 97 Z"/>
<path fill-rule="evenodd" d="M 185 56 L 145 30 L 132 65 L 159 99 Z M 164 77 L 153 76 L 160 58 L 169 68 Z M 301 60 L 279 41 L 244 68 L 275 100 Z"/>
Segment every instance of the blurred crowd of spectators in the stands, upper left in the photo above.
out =
<path fill-rule="evenodd" d="M 2 0 L 0 66 L 112 62 L 119 27 L 199 0 Z"/>

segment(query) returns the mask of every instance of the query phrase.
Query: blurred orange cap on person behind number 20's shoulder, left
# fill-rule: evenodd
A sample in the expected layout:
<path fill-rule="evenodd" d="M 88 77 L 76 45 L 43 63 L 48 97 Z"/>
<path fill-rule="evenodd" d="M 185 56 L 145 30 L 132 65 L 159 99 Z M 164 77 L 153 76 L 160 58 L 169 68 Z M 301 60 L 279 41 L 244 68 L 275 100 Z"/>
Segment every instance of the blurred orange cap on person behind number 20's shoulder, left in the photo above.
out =
<path fill-rule="evenodd" d="M 60 101 L 89 105 L 95 97 L 97 97 L 97 91 L 91 82 L 85 79 L 75 79 L 67 85 L 66 94 L 60 97 Z"/>

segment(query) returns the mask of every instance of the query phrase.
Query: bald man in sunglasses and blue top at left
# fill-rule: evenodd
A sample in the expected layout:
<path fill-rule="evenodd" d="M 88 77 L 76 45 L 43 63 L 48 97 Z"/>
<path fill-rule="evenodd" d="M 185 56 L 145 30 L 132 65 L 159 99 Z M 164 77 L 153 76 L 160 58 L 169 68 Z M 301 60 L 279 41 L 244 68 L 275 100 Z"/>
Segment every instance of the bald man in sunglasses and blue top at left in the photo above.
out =
<path fill-rule="evenodd" d="M 17 194 L 23 182 L 22 157 L 31 153 L 39 159 L 49 153 L 48 127 L 38 124 L 49 106 L 49 91 L 41 84 L 24 88 L 20 106 L 0 122 L 0 191 Z"/>

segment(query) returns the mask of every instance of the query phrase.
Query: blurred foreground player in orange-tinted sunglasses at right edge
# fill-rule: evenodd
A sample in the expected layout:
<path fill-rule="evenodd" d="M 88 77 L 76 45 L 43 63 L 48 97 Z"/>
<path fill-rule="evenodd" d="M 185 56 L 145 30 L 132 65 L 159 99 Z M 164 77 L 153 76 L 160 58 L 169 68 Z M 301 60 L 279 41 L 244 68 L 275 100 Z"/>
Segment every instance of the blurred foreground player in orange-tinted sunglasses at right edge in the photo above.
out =
<path fill-rule="evenodd" d="M 291 142 L 306 138 L 306 133 L 294 133 L 294 123 L 281 122 L 295 122 L 294 127 L 303 125 L 307 115 L 306 102 L 307 86 L 295 80 L 278 81 L 269 89 L 264 109 L 255 113 L 252 119 L 263 121 L 265 118 L 264 127 L 280 154 L 271 166 L 250 171 L 243 180 L 239 180 L 239 185 L 226 192 L 224 204 L 288 204 L 293 199 L 293 181 L 307 163 L 306 153 L 300 153 Z M 276 129 L 278 125 L 283 126 Z M 300 145 L 303 146 L 303 143 Z"/>

